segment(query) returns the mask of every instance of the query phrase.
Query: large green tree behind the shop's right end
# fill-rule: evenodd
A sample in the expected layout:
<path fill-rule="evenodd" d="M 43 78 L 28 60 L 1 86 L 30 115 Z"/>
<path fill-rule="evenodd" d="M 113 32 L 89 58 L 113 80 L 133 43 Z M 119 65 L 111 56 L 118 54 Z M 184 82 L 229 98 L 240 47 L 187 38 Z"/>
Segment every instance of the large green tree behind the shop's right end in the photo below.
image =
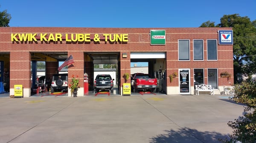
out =
<path fill-rule="evenodd" d="M 204 22 L 200 27 L 214 27 L 214 22 Z M 215 27 L 233 28 L 234 80 L 238 73 L 250 76 L 256 73 L 256 20 L 239 14 L 224 15 Z"/>

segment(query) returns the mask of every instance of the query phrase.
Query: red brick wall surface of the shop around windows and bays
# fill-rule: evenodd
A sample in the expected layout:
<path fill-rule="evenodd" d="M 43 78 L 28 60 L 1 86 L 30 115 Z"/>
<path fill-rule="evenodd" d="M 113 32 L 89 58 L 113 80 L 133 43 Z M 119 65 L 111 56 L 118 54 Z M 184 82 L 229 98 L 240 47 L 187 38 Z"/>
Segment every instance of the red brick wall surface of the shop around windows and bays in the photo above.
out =
<path fill-rule="evenodd" d="M 150 30 L 166 30 L 166 45 L 150 45 Z M 233 45 L 217 45 L 218 61 L 207 61 L 207 39 L 218 40 L 218 30 L 232 30 L 232 28 L 0 28 L 0 52 L 10 52 L 10 87 L 23 83 L 30 87 L 30 53 L 29 52 L 63 52 L 73 55 L 75 64 L 69 67 L 69 79 L 72 75 L 79 75 L 83 79 L 84 52 L 120 52 L 121 85 L 124 83 L 122 75 L 130 73 L 130 52 L 166 52 L 166 75 L 178 72 L 179 68 L 205 69 L 205 83 L 207 84 L 207 68 L 218 68 L 218 84 L 227 84 L 227 79 L 220 78 L 219 73 L 228 71 L 233 74 Z M 99 43 L 66 43 L 62 42 L 12 42 L 11 33 L 60 33 L 60 34 L 128 34 L 128 42 Z M 190 39 L 190 61 L 178 61 L 178 39 Z M 204 61 L 193 61 L 193 39 L 204 39 Z M 127 58 L 122 58 L 127 53 Z M 128 80 L 128 82 L 130 79 Z M 169 77 L 167 79 L 169 81 Z M 178 78 L 167 82 L 167 86 L 178 86 Z M 233 83 L 233 76 L 230 79 Z M 192 83 L 193 85 L 193 83 Z"/>

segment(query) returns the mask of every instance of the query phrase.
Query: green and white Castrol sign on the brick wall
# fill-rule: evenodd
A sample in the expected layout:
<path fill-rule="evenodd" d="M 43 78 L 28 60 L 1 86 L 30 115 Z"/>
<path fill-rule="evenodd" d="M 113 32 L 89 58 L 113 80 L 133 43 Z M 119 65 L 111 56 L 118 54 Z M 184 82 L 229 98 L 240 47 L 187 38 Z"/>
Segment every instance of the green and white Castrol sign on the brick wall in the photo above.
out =
<path fill-rule="evenodd" d="M 165 45 L 166 35 L 165 30 L 151 30 L 150 31 L 150 45 Z"/>

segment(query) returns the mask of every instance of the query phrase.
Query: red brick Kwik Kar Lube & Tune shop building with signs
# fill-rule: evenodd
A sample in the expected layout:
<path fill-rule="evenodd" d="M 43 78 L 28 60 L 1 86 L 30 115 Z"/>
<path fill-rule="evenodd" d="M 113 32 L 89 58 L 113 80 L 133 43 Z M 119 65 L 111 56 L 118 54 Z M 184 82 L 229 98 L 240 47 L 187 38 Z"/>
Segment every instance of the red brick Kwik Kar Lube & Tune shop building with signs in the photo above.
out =
<path fill-rule="evenodd" d="M 118 64 L 116 78 L 122 86 L 131 62 L 148 62 L 148 73 L 161 81 L 161 92 L 167 95 L 194 94 L 194 84 L 202 83 L 211 84 L 218 94 L 233 84 L 233 76 L 220 76 L 233 74 L 232 32 L 232 28 L 6 27 L 0 28 L 0 70 L 8 73 L 10 95 L 15 84 L 22 84 L 24 97 L 31 95 L 34 61 L 45 61 L 50 80 L 58 73 L 58 62 L 70 55 L 75 62 L 68 67 L 69 80 L 78 75 L 82 83 L 88 73 L 93 82 L 93 64 Z M 170 81 L 174 73 L 177 76 Z"/>

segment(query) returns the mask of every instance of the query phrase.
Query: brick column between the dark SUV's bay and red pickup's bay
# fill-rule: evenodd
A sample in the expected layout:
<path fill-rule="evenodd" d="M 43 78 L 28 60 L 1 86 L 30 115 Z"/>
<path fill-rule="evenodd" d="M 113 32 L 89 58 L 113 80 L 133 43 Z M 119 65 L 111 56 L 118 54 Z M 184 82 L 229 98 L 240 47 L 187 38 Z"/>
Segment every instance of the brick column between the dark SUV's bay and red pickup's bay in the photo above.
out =
<path fill-rule="evenodd" d="M 131 76 L 126 80 L 124 77 L 125 73 L 129 73 L 131 75 L 131 57 L 130 51 L 122 51 L 120 53 L 120 94 L 122 95 L 122 85 L 124 83 L 131 83 Z"/>

